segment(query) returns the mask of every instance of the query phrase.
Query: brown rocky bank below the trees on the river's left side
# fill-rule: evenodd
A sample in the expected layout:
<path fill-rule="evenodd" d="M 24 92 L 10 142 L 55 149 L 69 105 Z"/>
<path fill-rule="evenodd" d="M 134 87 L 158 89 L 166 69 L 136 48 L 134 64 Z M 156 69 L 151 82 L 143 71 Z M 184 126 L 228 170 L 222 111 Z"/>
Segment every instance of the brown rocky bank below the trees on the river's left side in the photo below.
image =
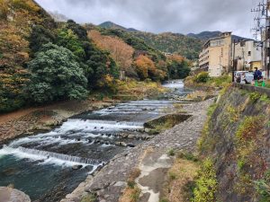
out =
<path fill-rule="evenodd" d="M 70 117 L 85 111 L 103 109 L 117 102 L 119 101 L 64 101 L 0 115 L 0 145 L 18 136 L 49 131 Z"/>

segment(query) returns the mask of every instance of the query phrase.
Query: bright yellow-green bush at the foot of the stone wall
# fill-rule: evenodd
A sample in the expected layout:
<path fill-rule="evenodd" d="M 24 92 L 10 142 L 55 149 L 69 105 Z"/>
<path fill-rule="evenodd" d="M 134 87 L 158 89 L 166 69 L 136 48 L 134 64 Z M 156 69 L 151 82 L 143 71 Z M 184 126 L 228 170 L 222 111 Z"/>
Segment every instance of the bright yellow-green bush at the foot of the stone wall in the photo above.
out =
<path fill-rule="evenodd" d="M 195 180 L 193 202 L 216 202 L 217 188 L 216 171 L 213 162 L 208 158 L 202 162 L 199 177 Z"/>

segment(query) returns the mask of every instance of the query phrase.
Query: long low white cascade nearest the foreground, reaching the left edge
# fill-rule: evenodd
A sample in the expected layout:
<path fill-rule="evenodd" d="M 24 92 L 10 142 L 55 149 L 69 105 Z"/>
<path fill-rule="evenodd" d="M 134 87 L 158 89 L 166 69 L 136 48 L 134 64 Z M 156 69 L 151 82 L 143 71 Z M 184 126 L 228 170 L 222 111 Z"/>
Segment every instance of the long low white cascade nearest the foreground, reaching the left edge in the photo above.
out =
<path fill-rule="evenodd" d="M 28 149 L 24 147 L 13 148 L 4 145 L 0 150 L 0 154 L 14 154 L 20 158 L 29 158 L 31 160 L 48 160 L 49 162 L 55 162 L 60 164 L 83 164 L 83 165 L 99 165 L 103 162 L 94 159 L 87 159 L 77 156 L 71 156 L 66 154 L 57 154 L 46 151 L 40 151 L 36 149 Z M 52 161 L 50 161 L 52 160 Z"/>

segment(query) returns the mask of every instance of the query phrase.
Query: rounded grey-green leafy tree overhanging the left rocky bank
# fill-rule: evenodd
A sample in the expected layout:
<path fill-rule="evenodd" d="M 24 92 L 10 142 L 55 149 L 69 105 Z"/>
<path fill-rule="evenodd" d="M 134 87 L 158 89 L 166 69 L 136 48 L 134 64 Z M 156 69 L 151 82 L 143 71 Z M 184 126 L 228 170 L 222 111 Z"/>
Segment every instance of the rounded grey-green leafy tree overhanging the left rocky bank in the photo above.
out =
<path fill-rule="evenodd" d="M 76 100 L 87 96 L 87 79 L 76 57 L 67 48 L 44 45 L 29 63 L 32 101 Z"/>

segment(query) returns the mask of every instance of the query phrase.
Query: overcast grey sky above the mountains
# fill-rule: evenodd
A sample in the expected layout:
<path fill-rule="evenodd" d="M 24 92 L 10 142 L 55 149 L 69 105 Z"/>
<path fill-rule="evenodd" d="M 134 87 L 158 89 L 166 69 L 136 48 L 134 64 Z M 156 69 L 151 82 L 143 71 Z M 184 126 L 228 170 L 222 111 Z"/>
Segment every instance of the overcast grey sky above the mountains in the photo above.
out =
<path fill-rule="evenodd" d="M 260 0 L 36 0 L 76 22 L 118 23 L 139 31 L 233 31 L 252 37 L 253 14 Z"/>

